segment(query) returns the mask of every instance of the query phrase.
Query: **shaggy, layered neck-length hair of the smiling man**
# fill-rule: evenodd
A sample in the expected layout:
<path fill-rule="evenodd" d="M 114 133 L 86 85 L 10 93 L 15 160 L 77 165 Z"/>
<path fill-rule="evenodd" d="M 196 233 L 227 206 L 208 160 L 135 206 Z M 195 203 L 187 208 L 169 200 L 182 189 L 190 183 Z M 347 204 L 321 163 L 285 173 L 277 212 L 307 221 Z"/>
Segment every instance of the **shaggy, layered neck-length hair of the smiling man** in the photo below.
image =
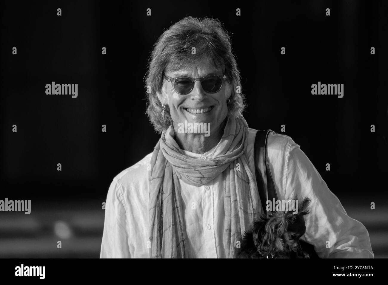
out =
<path fill-rule="evenodd" d="M 196 54 L 191 54 L 191 48 Z M 161 116 L 162 106 L 157 93 L 163 94 L 163 73 L 196 66 L 206 60 L 210 67 L 222 68 L 230 84 L 229 116 L 241 118 L 244 110 L 244 95 L 237 93 L 241 87 L 240 72 L 232 53 L 230 37 L 218 19 L 210 17 L 185 17 L 163 32 L 154 44 L 145 74 L 147 115 L 155 130 L 161 133 L 172 124 L 170 110 Z M 150 87 L 150 89 L 148 88 Z M 167 108 L 168 109 L 168 108 Z"/>

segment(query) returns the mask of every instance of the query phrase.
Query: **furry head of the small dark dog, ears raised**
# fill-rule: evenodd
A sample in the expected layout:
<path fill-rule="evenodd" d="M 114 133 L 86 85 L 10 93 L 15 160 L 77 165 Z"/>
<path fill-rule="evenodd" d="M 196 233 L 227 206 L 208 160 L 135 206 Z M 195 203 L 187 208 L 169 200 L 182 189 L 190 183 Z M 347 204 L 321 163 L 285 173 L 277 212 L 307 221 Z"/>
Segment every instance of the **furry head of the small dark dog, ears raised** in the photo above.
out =
<path fill-rule="evenodd" d="M 264 254 L 301 250 L 299 238 L 306 231 L 304 216 L 309 213 L 311 199 L 306 197 L 298 200 L 298 196 L 295 196 L 292 200 L 298 201 L 297 213 L 292 210 L 271 211 L 268 217 L 262 216 L 265 226 L 253 231 L 258 249 Z"/>

